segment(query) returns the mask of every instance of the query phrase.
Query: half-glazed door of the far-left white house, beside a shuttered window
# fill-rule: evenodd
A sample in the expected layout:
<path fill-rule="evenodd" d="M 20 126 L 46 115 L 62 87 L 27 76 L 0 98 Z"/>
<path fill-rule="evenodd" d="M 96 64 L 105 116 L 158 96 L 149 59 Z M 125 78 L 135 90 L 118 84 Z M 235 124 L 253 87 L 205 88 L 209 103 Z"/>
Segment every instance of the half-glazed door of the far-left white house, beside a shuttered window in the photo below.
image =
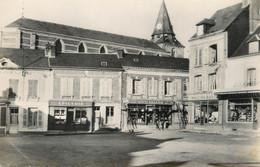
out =
<path fill-rule="evenodd" d="M 18 115 L 19 109 L 18 107 L 11 107 L 10 108 L 10 129 L 9 133 L 17 133 L 18 131 Z"/>

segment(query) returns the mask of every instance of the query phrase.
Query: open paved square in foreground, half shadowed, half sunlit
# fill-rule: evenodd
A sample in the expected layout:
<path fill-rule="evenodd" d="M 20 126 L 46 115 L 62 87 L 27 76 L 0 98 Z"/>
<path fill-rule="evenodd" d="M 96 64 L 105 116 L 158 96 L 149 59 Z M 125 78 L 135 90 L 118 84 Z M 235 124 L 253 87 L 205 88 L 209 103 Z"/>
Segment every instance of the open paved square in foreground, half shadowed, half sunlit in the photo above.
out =
<path fill-rule="evenodd" d="M 260 166 L 259 138 L 177 130 L 0 137 L 0 166 Z"/>

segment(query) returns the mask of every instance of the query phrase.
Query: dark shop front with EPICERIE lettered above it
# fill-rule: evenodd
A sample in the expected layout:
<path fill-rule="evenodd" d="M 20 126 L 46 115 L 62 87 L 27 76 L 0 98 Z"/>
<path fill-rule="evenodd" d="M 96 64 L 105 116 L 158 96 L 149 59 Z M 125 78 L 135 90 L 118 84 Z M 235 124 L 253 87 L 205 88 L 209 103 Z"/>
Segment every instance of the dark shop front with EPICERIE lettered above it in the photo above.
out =
<path fill-rule="evenodd" d="M 48 130 L 92 131 L 93 102 L 49 101 Z"/>

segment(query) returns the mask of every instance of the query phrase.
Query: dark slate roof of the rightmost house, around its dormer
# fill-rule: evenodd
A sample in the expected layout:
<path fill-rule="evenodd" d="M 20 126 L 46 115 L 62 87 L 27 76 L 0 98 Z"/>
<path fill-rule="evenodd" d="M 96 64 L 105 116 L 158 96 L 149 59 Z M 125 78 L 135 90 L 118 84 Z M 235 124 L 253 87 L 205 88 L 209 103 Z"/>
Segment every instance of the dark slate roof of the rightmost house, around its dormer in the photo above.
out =
<path fill-rule="evenodd" d="M 241 43 L 241 45 L 238 47 L 238 49 L 234 52 L 233 55 L 230 57 L 239 57 L 239 56 L 245 56 L 249 54 L 249 47 L 248 43 L 253 42 L 254 36 L 259 37 L 260 36 L 260 26 L 255 30 L 254 33 L 249 34 L 245 40 Z M 252 41 L 251 41 L 252 40 Z"/>

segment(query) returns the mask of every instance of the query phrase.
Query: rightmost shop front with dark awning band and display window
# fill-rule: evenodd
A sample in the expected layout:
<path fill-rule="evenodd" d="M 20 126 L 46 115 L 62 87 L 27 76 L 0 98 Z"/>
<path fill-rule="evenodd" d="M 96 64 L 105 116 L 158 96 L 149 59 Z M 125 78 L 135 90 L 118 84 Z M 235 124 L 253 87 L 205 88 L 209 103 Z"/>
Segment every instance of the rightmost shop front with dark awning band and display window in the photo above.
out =
<path fill-rule="evenodd" d="M 233 130 L 259 128 L 260 93 L 219 93 L 218 98 L 224 104 L 226 128 Z"/>

